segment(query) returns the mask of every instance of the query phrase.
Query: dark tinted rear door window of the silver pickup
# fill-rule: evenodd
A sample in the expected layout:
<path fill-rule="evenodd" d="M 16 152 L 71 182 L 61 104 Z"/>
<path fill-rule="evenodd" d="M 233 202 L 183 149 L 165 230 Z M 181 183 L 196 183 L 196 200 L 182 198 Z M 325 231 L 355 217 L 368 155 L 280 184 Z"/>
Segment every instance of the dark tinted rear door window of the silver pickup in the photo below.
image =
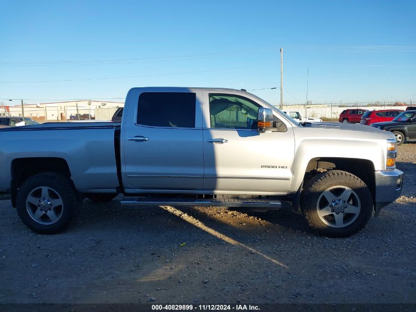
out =
<path fill-rule="evenodd" d="M 195 103 L 195 93 L 144 92 L 137 105 L 137 124 L 195 128 Z"/>

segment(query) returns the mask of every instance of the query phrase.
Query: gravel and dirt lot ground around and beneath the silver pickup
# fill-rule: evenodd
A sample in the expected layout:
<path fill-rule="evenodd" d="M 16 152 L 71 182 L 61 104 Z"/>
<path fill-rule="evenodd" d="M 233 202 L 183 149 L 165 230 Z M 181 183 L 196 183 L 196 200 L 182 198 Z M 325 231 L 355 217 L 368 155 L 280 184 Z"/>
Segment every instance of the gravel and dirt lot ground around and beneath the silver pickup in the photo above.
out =
<path fill-rule="evenodd" d="M 403 196 L 348 239 L 317 236 L 289 205 L 116 200 L 86 200 L 67 231 L 42 236 L 0 201 L 0 303 L 416 303 L 416 144 L 397 167 Z"/>

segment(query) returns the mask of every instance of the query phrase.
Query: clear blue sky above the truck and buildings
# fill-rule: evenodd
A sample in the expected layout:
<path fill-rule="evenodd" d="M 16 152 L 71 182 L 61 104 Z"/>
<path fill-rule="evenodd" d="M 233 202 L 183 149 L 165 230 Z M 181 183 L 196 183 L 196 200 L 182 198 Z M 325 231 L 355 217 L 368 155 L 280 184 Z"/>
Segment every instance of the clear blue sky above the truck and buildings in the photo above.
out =
<path fill-rule="evenodd" d="M 281 46 L 284 101 L 306 101 L 308 66 L 313 103 L 413 101 L 416 93 L 414 0 L 2 0 L 1 12 L 0 98 L 275 87 Z M 114 77 L 122 78 L 96 79 Z M 253 93 L 280 99 L 278 89 Z"/>

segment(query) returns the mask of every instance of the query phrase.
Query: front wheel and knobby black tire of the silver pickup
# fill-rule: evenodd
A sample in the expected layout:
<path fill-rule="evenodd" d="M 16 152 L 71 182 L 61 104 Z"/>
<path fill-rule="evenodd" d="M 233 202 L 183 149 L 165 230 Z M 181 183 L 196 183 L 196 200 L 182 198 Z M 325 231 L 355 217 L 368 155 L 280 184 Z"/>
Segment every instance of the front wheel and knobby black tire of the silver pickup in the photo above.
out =
<path fill-rule="evenodd" d="M 309 225 L 327 237 L 357 233 L 373 212 L 371 192 L 365 183 L 340 170 L 319 173 L 307 181 L 301 204 Z"/>

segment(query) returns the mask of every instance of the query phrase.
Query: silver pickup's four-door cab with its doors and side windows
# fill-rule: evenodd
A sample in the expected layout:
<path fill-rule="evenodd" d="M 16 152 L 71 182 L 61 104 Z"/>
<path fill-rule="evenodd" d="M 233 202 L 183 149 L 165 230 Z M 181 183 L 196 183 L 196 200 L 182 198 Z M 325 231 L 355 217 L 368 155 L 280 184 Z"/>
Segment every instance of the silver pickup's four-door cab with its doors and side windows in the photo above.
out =
<path fill-rule="evenodd" d="M 263 106 L 254 96 L 178 88 L 133 89 L 128 96 L 138 102 L 123 113 L 126 193 L 288 193 L 292 125 L 275 112 L 281 127 L 260 135 L 257 113 Z"/>

